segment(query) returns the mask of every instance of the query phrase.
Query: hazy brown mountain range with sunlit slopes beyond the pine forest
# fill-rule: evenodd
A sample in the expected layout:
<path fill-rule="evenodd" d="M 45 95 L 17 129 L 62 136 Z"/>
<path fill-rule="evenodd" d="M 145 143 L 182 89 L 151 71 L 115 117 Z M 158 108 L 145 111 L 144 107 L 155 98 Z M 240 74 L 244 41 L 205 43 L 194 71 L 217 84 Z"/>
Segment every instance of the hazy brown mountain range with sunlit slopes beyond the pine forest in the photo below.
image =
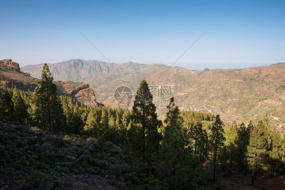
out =
<path fill-rule="evenodd" d="M 114 98 L 115 90 L 127 86 L 135 94 L 137 85 L 145 79 L 150 86 L 171 88 L 171 96 L 181 110 L 220 114 L 228 125 L 234 120 L 256 122 L 267 113 L 271 127 L 279 126 L 282 131 L 285 125 L 285 63 L 213 70 L 81 59 L 48 65 L 54 80 L 89 83 L 97 101 L 111 107 L 130 108 L 131 103 L 118 104 Z M 42 67 L 43 64 L 26 65 L 21 70 L 40 78 Z M 165 113 L 167 99 L 169 97 L 155 97 L 159 116 Z"/>

